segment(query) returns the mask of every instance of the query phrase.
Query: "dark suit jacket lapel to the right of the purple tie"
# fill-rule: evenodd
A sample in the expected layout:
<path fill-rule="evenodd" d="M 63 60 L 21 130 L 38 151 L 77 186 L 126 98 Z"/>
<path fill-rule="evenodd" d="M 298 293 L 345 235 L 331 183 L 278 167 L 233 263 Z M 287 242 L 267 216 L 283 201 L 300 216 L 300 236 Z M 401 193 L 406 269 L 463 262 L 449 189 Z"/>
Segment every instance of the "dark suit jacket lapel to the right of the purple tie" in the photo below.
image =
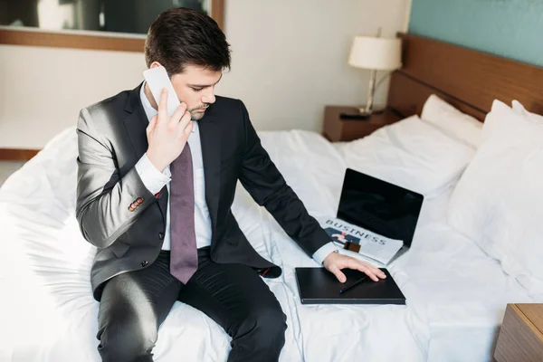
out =
<path fill-rule="evenodd" d="M 221 186 L 221 135 L 215 122 L 217 116 L 213 106 L 207 110 L 205 117 L 198 122 L 200 143 L 205 176 L 205 202 L 211 217 L 212 230 L 216 230 L 219 194 Z"/>

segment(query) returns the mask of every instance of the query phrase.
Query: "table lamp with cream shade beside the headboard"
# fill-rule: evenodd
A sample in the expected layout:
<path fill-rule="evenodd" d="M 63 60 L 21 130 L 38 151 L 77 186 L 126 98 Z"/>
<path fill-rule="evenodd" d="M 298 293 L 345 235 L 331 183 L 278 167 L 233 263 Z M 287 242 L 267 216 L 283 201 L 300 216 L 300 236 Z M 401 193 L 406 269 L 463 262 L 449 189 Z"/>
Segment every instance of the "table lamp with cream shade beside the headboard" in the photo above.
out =
<path fill-rule="evenodd" d="M 380 31 L 379 31 L 380 33 Z M 356 36 L 348 57 L 352 67 L 371 71 L 366 108 L 360 108 L 360 119 L 368 118 L 373 111 L 377 71 L 395 71 L 402 66 L 402 43 L 398 38 Z"/>

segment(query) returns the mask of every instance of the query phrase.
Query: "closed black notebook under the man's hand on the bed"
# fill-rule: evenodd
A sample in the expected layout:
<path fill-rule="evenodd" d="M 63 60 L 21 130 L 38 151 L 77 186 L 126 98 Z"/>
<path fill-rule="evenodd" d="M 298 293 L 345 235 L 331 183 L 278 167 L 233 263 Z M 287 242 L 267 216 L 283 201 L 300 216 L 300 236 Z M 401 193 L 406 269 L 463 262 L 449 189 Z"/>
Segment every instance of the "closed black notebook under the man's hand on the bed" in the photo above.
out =
<path fill-rule="evenodd" d="M 296 280 L 302 304 L 405 304 L 405 296 L 390 273 L 386 279 L 372 281 L 367 278 L 343 293 L 353 282 L 365 274 L 350 269 L 342 270 L 347 281 L 341 283 L 336 276 L 324 268 L 296 268 Z"/>

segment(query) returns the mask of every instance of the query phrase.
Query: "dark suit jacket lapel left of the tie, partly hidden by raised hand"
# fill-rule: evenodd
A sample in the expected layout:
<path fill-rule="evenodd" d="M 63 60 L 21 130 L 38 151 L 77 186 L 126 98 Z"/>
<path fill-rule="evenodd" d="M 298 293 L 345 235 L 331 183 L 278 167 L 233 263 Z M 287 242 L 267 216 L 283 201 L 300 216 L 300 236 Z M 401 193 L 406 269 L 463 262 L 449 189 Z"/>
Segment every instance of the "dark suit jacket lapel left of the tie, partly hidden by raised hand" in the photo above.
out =
<path fill-rule="evenodd" d="M 124 119 L 125 127 L 129 133 L 130 142 L 134 148 L 135 160 L 138 162 L 139 158 L 147 152 L 148 140 L 146 129 L 148 127 L 148 119 L 143 110 L 141 99 L 139 98 L 139 91 L 143 83 L 139 84 L 134 90 L 130 90 L 129 100 L 125 106 L 125 111 L 129 114 Z M 158 206 L 160 207 L 160 213 L 166 224 L 166 212 L 167 212 L 167 186 L 164 186 L 160 190 L 161 196 L 158 198 Z"/>

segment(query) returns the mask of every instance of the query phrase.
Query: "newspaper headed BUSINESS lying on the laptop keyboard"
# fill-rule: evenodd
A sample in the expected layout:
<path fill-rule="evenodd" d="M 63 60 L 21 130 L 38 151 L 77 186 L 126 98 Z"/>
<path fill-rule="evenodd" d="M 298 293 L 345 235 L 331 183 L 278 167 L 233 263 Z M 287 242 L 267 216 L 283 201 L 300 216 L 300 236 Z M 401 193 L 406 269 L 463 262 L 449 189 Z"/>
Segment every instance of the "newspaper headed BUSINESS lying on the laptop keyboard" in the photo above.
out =
<path fill-rule="evenodd" d="M 327 219 L 321 222 L 320 226 L 329 234 L 334 242 L 344 245 L 348 242 L 360 245 L 360 250 L 357 252 L 385 265 L 390 262 L 396 252 L 404 245 L 404 242 L 401 240 L 390 239 L 378 233 L 372 233 L 364 228 L 348 224 L 336 218 Z M 353 251 L 353 248 L 349 248 L 349 250 Z"/>

